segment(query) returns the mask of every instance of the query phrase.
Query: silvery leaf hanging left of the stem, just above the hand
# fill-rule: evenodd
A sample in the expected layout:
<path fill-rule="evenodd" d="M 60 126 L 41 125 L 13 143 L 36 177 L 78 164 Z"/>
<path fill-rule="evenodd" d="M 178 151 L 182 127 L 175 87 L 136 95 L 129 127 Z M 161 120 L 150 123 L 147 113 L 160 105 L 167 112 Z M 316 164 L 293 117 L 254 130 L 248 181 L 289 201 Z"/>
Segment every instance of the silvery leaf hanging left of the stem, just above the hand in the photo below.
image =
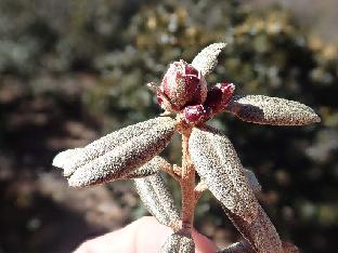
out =
<path fill-rule="evenodd" d="M 142 202 L 160 224 L 172 226 L 180 221 L 173 197 L 159 174 L 134 179 L 134 184 Z"/>

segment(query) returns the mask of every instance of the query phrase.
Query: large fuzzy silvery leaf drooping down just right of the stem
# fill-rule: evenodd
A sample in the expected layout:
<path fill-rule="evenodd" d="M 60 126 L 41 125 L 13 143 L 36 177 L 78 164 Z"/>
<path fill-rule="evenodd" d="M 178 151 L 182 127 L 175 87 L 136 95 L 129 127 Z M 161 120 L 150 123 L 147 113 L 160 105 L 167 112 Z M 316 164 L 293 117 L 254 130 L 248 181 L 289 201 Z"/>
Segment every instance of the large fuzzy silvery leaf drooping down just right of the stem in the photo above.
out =
<path fill-rule="evenodd" d="M 233 213 L 252 221 L 259 203 L 230 139 L 211 128 L 194 128 L 188 151 L 212 195 Z"/>

